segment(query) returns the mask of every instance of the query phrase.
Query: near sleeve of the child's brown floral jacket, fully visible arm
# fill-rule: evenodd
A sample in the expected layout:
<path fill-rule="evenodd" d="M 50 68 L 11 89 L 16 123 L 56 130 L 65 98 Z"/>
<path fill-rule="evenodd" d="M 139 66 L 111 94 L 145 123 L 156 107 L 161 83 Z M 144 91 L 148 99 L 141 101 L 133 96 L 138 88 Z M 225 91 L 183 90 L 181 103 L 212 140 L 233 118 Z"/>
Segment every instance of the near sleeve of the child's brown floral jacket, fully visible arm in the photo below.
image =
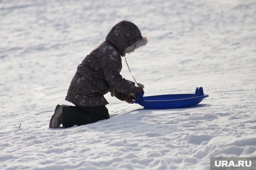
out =
<path fill-rule="evenodd" d="M 107 50 L 101 57 L 101 67 L 109 86 L 123 94 L 131 94 L 134 92 L 135 83 L 126 80 L 120 75 L 122 69 L 122 61 L 120 55 L 115 49 Z"/>

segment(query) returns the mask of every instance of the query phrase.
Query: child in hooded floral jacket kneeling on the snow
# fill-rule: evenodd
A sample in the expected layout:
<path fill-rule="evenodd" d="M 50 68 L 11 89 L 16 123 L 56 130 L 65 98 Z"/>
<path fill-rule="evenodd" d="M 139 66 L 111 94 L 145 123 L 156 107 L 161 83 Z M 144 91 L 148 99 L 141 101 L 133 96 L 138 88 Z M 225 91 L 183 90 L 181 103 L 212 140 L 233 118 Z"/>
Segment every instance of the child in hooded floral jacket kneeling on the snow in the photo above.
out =
<path fill-rule="evenodd" d="M 111 96 L 132 103 L 133 95 L 143 92 L 143 87 L 135 86 L 134 82 L 122 78 L 121 56 L 147 42 L 147 37 L 141 36 L 134 23 L 117 23 L 108 33 L 106 41 L 77 66 L 65 98 L 75 106 L 57 105 L 50 128 L 58 128 L 61 123 L 67 128 L 108 119 L 109 113 L 105 107 L 108 102 L 103 95 L 110 91 Z"/>

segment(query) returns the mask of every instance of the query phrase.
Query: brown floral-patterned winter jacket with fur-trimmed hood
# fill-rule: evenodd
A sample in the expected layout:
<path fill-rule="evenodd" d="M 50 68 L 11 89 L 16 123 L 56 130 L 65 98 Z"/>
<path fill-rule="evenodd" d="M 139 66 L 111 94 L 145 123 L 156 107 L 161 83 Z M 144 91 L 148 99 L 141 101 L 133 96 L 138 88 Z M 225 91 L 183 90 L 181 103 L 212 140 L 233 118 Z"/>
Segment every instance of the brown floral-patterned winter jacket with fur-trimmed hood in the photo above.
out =
<path fill-rule="evenodd" d="M 138 27 L 129 21 L 117 23 L 101 43 L 81 64 L 71 80 L 65 100 L 76 106 L 102 106 L 108 102 L 103 95 L 114 90 L 115 97 L 124 100 L 134 91 L 135 83 L 120 75 L 121 56 L 146 45 Z"/>

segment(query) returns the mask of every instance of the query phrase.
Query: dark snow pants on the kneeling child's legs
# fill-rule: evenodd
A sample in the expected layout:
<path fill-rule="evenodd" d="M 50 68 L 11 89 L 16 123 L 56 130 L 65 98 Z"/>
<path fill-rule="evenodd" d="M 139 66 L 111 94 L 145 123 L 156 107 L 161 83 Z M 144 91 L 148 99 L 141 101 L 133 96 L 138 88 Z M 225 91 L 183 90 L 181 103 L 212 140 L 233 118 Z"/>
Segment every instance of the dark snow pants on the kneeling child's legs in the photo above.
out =
<path fill-rule="evenodd" d="M 63 105 L 62 125 L 65 128 L 94 123 L 108 118 L 109 113 L 106 106 L 83 107 Z"/>

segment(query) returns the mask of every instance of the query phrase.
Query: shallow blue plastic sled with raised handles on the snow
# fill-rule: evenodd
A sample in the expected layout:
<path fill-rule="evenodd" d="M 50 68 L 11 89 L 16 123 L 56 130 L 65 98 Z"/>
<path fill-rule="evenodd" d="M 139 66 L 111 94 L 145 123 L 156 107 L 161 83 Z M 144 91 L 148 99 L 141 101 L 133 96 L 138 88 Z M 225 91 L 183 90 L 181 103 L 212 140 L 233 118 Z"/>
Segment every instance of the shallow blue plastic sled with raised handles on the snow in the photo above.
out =
<path fill-rule="evenodd" d="M 145 109 L 172 109 L 195 106 L 206 97 L 209 95 L 203 94 L 203 88 L 197 87 L 195 94 L 143 97 L 141 93 L 138 93 L 137 100 L 132 100 L 132 102 L 143 106 Z"/>

